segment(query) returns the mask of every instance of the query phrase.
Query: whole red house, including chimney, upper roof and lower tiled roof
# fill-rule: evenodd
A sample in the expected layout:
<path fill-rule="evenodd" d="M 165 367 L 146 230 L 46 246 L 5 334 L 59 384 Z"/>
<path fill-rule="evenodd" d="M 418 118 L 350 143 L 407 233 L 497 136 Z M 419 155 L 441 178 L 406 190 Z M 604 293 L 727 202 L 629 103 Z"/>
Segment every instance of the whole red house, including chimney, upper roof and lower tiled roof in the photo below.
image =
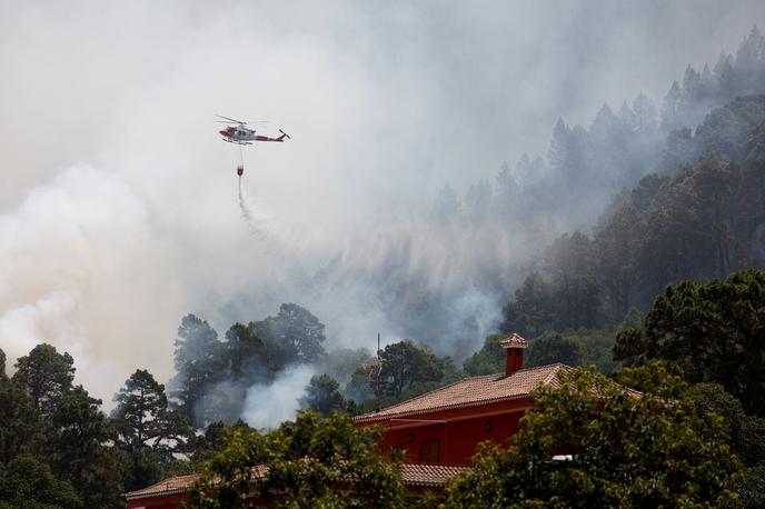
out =
<path fill-rule="evenodd" d="M 501 346 L 507 352 L 505 372 L 467 378 L 354 418 L 359 427 L 384 427 L 384 452 L 405 453 L 403 477 L 411 492 L 443 491 L 470 463 L 479 442 L 505 443 L 531 407 L 530 392 L 540 385 L 557 386 L 558 373 L 572 369 L 560 363 L 524 369 L 526 340 L 518 335 L 503 339 Z M 196 475 L 176 476 L 125 493 L 128 508 L 180 507 L 196 479 Z"/>

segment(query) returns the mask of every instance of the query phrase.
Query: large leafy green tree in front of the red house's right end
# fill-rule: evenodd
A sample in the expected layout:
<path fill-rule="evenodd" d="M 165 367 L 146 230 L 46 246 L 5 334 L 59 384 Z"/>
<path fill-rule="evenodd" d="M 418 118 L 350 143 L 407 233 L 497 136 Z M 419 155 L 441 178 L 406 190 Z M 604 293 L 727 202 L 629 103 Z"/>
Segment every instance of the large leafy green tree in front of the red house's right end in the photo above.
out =
<path fill-rule="evenodd" d="M 725 507 L 741 463 L 723 420 L 696 411 L 687 386 L 663 367 L 625 370 L 643 396 L 594 369 L 543 386 L 510 447 L 484 445 L 448 488 L 448 507 Z M 678 395 L 678 398 L 670 398 Z M 555 455 L 570 455 L 554 460 Z"/>

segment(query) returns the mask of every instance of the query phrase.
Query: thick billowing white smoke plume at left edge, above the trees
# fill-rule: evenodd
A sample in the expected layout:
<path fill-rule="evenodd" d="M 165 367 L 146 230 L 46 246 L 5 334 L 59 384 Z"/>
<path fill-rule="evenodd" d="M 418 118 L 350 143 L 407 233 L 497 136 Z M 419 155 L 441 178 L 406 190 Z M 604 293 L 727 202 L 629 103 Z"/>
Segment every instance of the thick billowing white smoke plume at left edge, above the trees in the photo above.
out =
<path fill-rule="evenodd" d="M 78 381 L 109 400 L 137 368 L 120 359 L 166 333 L 147 296 L 177 301 L 142 201 L 118 177 L 74 166 L 0 216 L 0 348 L 11 360 L 39 342 L 69 351 Z M 143 366 L 166 363 L 168 350 L 143 350 Z"/>

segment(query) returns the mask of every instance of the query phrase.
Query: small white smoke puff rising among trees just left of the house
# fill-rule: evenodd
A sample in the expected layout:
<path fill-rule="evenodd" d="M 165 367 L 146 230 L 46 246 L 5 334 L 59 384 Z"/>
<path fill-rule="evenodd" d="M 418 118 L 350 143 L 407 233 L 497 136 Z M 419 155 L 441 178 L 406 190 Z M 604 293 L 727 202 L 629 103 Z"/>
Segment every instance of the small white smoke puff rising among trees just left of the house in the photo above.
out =
<path fill-rule="evenodd" d="M 300 365 L 279 372 L 272 383 L 257 383 L 247 389 L 241 418 L 257 429 L 271 429 L 294 419 L 300 408 L 298 400 L 315 375 L 310 366 Z"/>

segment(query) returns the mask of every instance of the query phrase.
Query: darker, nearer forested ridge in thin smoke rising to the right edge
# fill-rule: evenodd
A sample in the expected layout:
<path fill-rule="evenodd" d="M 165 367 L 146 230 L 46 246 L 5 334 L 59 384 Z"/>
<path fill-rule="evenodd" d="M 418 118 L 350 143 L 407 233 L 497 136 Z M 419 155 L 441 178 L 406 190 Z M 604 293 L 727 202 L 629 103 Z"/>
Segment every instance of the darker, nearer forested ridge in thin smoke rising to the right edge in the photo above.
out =
<path fill-rule="evenodd" d="M 617 323 L 669 283 L 765 267 L 763 121 L 765 96 L 713 111 L 682 156 L 665 152 L 688 162 L 620 192 L 593 234 L 555 239 L 505 307 L 503 328 L 534 337 Z"/>

